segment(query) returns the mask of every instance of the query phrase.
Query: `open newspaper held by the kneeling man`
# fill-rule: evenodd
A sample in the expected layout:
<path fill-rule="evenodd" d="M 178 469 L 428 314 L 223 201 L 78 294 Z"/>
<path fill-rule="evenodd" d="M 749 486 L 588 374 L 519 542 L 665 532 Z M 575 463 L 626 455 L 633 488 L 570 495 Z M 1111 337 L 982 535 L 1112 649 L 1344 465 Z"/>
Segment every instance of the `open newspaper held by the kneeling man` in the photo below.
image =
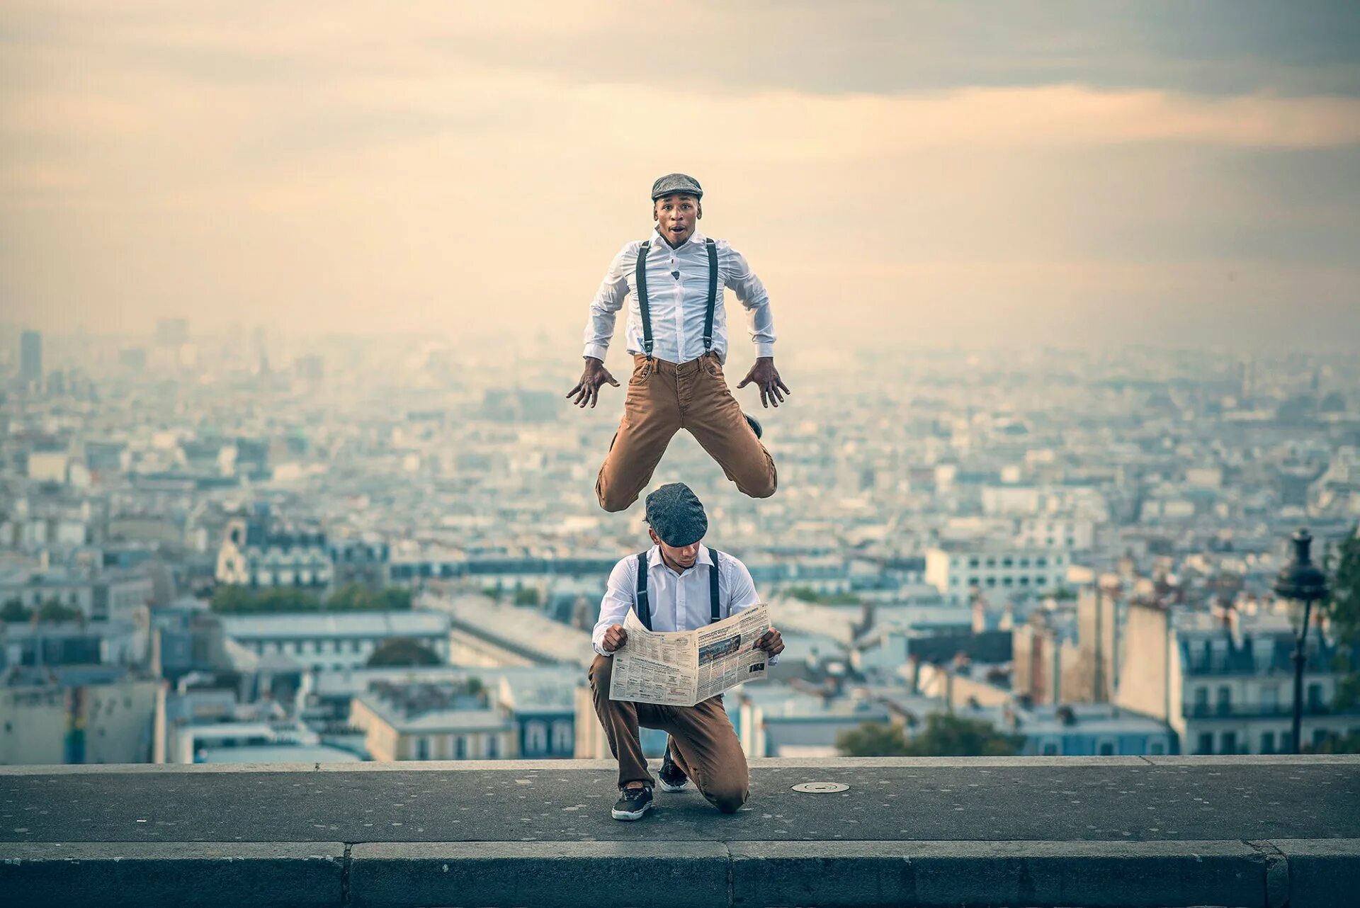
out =
<path fill-rule="evenodd" d="M 756 640 L 770 629 L 764 602 L 698 631 L 658 632 L 628 609 L 628 642 L 613 654 L 611 700 L 692 707 L 767 674 L 770 654 Z"/>

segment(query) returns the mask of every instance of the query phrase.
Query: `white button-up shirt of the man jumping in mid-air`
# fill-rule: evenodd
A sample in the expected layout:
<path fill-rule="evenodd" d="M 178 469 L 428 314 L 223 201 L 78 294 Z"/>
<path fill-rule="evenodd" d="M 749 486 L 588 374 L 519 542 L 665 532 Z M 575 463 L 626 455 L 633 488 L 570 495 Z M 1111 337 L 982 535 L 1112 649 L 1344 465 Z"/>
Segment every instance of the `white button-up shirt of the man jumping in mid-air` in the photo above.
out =
<path fill-rule="evenodd" d="M 651 355 L 670 363 L 688 363 L 703 356 L 703 319 L 709 311 L 709 250 L 698 230 L 680 245 L 670 243 L 651 231 L 647 249 L 647 303 L 651 310 Z M 774 317 L 770 295 L 752 273 L 745 257 L 728 241 L 715 239 L 718 249 L 718 298 L 713 310 L 713 349 L 718 362 L 728 362 L 728 317 L 724 288 L 730 287 L 751 315 L 751 340 L 756 356 L 774 356 Z M 626 333 L 628 352 L 642 353 L 642 309 L 638 306 L 638 247 L 642 241 L 627 243 L 609 264 L 600 290 L 590 300 L 586 321 L 585 356 L 604 360 L 613 337 L 615 313 L 628 302 Z"/>

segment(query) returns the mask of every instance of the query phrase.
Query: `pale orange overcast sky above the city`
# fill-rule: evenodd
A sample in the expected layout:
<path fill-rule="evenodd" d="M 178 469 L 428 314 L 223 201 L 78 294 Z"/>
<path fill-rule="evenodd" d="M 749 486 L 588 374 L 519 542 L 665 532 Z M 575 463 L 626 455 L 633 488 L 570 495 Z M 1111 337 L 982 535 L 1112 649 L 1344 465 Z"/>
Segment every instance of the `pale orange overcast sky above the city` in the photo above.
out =
<path fill-rule="evenodd" d="M 10 324 L 574 356 L 673 170 L 781 347 L 1360 337 L 1356 3 L 0 4 Z"/>

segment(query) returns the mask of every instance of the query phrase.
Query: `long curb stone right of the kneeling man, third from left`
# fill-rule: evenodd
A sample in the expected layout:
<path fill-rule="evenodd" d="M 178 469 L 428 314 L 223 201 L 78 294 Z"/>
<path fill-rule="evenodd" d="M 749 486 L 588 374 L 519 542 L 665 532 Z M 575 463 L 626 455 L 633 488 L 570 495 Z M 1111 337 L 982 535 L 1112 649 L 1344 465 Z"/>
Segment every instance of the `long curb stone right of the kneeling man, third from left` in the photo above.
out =
<path fill-rule="evenodd" d="M 1265 905 L 1266 862 L 1238 841 L 732 843 L 732 904 Z"/>

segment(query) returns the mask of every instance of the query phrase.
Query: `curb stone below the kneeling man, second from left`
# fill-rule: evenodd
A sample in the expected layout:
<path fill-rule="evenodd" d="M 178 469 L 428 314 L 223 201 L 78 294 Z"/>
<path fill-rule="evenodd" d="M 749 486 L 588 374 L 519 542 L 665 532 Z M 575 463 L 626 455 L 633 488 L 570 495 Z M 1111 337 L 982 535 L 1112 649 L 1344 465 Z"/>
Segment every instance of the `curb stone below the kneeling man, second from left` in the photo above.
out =
<path fill-rule="evenodd" d="M 711 841 L 359 844 L 355 908 L 726 908 L 728 848 Z"/>

